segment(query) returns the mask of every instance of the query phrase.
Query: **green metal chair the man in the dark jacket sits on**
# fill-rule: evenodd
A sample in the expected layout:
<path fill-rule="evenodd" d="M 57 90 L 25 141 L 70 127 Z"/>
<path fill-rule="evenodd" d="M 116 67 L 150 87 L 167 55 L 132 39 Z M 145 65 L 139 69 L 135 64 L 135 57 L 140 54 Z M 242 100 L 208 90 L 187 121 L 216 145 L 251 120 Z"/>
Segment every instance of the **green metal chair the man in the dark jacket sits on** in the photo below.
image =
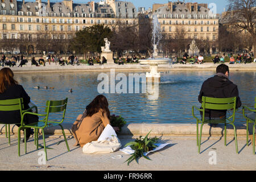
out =
<path fill-rule="evenodd" d="M 202 137 L 202 129 L 205 123 L 224 123 L 225 127 L 225 146 L 226 146 L 226 125 L 230 124 L 234 127 L 234 137 L 236 141 L 236 151 L 238 154 L 238 147 L 237 147 L 237 134 L 236 134 L 236 126 L 234 126 L 235 121 L 235 115 L 236 115 L 236 97 L 230 97 L 230 98 L 212 98 L 212 97 L 202 97 L 202 109 L 199 109 L 196 106 L 192 106 L 192 115 L 194 118 L 196 118 L 196 142 L 198 146 L 198 152 L 200 154 L 200 146 L 201 146 L 201 137 Z M 197 118 L 194 113 L 194 108 L 202 111 L 203 116 L 202 118 Z M 214 109 L 214 110 L 229 110 L 233 109 L 233 114 L 226 119 L 220 119 L 220 120 L 210 120 L 205 119 L 205 109 Z M 201 123 L 200 127 L 200 137 L 199 137 L 199 123 Z"/>

